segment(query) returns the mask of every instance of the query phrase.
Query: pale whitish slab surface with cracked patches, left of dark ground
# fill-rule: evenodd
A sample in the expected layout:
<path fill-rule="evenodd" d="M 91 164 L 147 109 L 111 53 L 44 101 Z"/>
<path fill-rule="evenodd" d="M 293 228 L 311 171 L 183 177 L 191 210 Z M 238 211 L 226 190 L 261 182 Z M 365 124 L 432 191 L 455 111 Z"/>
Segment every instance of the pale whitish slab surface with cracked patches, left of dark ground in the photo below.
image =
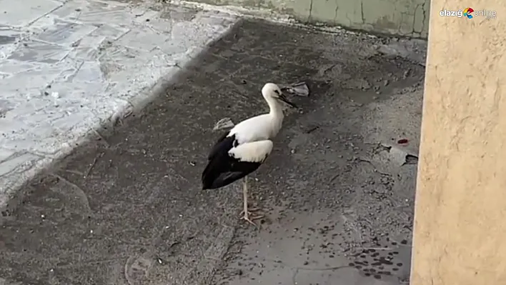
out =
<path fill-rule="evenodd" d="M 154 2 L 0 7 L 0 209 L 92 129 L 149 100 L 157 82 L 237 21 Z"/>

